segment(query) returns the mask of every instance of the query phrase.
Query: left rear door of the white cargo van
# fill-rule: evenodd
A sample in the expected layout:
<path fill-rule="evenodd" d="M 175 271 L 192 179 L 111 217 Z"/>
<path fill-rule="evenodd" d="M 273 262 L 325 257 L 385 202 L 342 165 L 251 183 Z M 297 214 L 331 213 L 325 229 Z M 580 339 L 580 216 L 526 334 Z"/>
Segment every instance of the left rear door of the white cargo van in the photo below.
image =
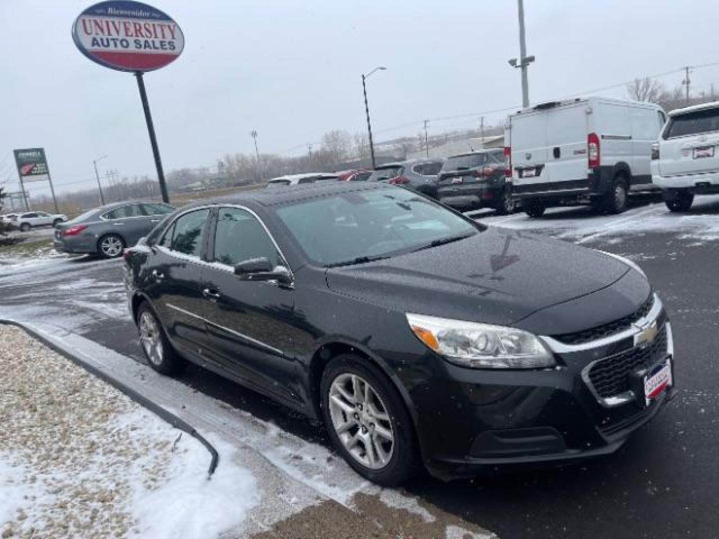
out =
<path fill-rule="evenodd" d="M 551 181 L 546 167 L 547 111 L 515 114 L 509 121 L 514 188 L 518 192 L 535 190 L 534 185 Z"/>

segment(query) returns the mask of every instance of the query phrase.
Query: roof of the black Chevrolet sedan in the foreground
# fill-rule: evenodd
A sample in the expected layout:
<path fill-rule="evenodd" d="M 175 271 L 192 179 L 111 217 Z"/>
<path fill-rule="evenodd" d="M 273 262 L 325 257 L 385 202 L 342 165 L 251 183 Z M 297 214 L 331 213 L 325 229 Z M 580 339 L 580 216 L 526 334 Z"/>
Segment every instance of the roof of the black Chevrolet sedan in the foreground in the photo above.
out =
<path fill-rule="evenodd" d="M 385 183 L 364 182 L 328 182 L 290 185 L 287 189 L 256 189 L 232 195 L 209 198 L 188 206 L 183 210 L 203 206 L 219 206 L 222 204 L 238 204 L 243 206 L 277 206 L 288 202 L 296 202 L 311 198 L 324 198 L 339 193 L 358 193 L 375 189 L 398 189 Z"/>

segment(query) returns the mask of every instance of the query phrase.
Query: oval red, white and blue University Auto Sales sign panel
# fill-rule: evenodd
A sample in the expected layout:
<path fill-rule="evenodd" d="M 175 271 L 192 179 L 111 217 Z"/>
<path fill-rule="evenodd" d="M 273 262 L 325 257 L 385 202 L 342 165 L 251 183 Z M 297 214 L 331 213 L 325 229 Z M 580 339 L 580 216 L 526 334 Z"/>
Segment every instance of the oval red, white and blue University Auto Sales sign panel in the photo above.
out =
<path fill-rule="evenodd" d="M 168 15 L 135 1 L 105 1 L 75 19 L 73 40 L 93 62 L 142 73 L 168 65 L 185 47 L 185 37 Z"/>

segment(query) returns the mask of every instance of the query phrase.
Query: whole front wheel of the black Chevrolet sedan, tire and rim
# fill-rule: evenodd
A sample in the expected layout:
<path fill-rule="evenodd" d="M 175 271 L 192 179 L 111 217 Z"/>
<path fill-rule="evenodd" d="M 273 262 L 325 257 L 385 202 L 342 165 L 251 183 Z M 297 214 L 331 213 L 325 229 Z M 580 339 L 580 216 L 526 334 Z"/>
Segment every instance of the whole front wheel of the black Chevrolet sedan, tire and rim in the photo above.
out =
<path fill-rule="evenodd" d="M 411 418 L 380 369 L 362 356 L 341 354 L 327 364 L 320 391 L 325 428 L 354 471 L 385 487 L 416 474 Z"/>

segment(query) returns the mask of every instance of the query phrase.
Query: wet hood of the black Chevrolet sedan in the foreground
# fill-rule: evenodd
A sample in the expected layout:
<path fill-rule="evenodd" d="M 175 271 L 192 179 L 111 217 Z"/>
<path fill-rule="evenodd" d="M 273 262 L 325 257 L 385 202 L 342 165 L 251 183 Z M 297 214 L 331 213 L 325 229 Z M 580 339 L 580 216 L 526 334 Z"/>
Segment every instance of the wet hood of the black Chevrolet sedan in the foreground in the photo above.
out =
<path fill-rule="evenodd" d="M 511 325 L 609 287 L 628 271 L 591 249 L 490 227 L 441 247 L 332 268 L 326 280 L 334 292 L 388 310 Z"/>

